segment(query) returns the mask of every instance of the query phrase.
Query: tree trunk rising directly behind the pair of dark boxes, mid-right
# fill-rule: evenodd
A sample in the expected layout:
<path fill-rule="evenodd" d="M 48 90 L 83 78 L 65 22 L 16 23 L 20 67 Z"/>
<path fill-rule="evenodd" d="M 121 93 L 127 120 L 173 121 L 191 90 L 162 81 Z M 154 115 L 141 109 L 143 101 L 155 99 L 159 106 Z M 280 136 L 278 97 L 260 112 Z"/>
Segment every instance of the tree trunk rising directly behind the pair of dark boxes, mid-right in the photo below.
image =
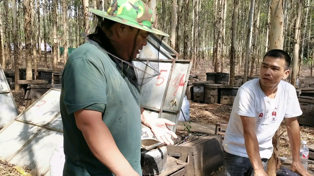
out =
<path fill-rule="evenodd" d="M 214 72 L 219 72 L 219 61 L 221 60 L 221 48 L 222 48 L 222 35 L 223 35 L 223 19 L 224 19 L 224 7 L 225 0 L 221 0 L 220 5 L 220 20 L 219 20 L 219 30 L 218 30 L 218 38 L 217 38 L 217 45 L 216 45 L 216 57 L 215 57 L 215 66 Z"/>

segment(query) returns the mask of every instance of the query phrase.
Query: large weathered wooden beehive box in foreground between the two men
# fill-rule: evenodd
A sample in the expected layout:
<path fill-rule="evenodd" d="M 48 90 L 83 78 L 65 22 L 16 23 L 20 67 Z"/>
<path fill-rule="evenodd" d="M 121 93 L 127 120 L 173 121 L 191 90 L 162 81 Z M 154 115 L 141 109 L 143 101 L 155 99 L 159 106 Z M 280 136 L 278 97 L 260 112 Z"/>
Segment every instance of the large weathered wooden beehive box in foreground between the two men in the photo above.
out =
<path fill-rule="evenodd" d="M 167 146 L 168 155 L 187 162 L 185 176 L 208 176 L 223 166 L 221 135 L 203 135 L 183 144 Z"/>

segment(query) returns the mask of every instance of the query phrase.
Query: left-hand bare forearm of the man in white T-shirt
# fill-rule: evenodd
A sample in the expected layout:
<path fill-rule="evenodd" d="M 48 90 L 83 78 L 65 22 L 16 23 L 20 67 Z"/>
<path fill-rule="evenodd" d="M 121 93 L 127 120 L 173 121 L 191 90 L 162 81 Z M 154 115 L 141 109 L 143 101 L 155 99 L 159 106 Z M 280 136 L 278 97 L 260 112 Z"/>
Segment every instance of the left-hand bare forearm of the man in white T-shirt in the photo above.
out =
<path fill-rule="evenodd" d="M 244 130 L 244 143 L 246 147 L 246 153 L 252 163 L 253 169 L 264 170 L 262 159 L 259 154 L 258 141 L 254 130 Z"/>

